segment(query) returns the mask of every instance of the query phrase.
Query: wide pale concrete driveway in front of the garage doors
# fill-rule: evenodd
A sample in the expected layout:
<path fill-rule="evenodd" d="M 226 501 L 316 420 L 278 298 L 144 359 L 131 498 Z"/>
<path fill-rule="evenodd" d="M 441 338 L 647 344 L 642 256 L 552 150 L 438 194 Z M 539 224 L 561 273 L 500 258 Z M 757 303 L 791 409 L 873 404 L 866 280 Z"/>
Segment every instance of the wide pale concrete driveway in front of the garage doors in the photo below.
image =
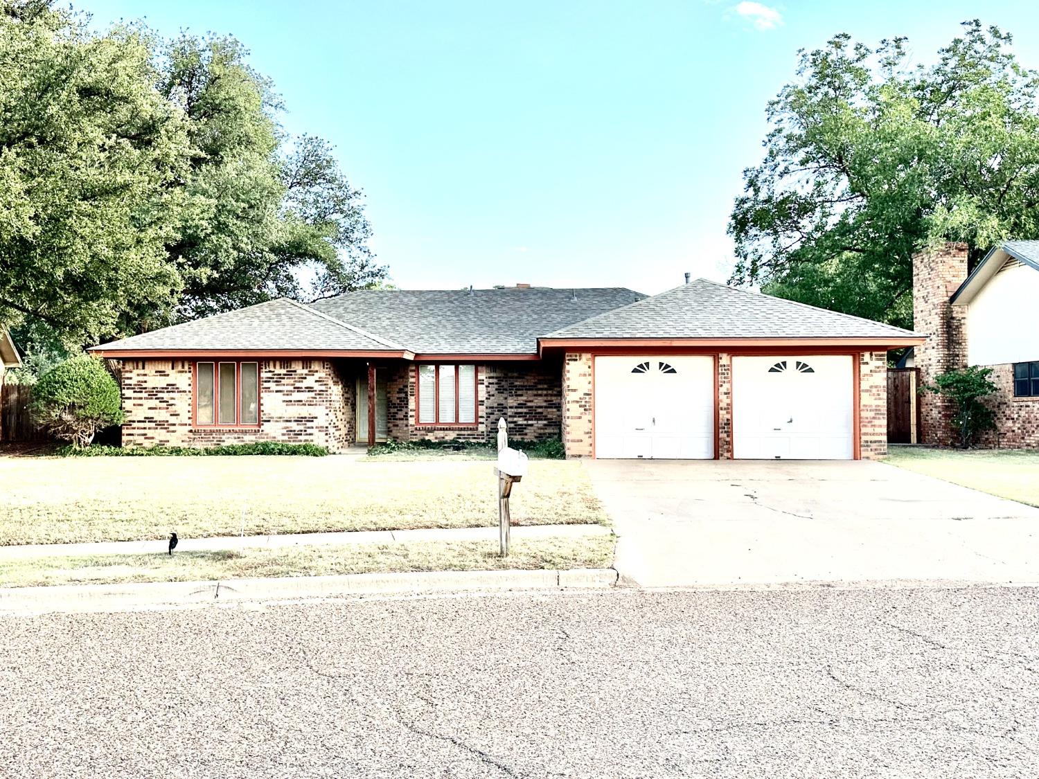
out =
<path fill-rule="evenodd" d="M 594 460 L 644 587 L 1039 582 L 1039 509 L 879 462 Z"/>

